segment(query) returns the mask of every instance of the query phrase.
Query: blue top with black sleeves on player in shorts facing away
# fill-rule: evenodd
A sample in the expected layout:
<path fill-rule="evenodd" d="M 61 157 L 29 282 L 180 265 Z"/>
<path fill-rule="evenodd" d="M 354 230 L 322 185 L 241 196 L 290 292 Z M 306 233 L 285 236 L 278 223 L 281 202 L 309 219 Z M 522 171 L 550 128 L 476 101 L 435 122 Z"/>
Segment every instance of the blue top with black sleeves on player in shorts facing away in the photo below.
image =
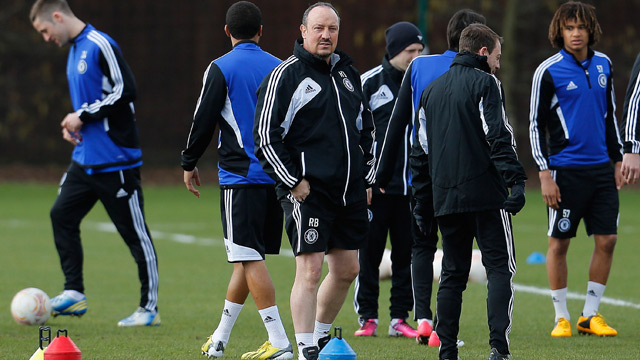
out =
<path fill-rule="evenodd" d="M 182 151 L 183 169 L 193 170 L 219 126 L 220 185 L 275 183 L 254 153 L 253 121 L 258 86 L 280 63 L 253 41 L 239 42 L 233 50 L 211 62 L 204 74 L 187 147 Z"/>

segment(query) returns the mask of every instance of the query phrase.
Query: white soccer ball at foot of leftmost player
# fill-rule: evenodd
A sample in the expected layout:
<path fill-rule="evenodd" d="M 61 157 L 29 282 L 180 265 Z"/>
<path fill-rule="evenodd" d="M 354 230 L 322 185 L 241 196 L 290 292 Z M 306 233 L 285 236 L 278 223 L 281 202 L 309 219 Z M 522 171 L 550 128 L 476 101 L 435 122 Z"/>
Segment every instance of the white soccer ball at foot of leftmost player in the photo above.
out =
<path fill-rule="evenodd" d="M 21 325 L 42 325 L 51 316 L 51 300 L 40 289 L 22 289 L 11 300 L 11 315 Z"/>

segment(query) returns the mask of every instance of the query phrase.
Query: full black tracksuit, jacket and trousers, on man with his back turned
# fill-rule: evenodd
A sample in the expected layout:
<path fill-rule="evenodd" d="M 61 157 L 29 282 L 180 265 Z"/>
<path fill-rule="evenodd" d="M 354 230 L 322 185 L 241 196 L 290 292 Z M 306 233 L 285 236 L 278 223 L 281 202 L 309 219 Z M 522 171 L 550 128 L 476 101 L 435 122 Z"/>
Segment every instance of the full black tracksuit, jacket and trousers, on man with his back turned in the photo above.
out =
<path fill-rule="evenodd" d="M 462 291 L 471 265 L 473 238 L 487 270 L 489 343 L 509 353 L 515 254 L 509 215 L 503 210 L 507 187 L 526 175 L 503 107 L 498 80 L 486 57 L 459 53 L 451 69 L 423 92 L 419 109 L 420 146 L 428 153 L 433 203 L 442 233 L 444 257 L 438 290 L 440 358 L 456 358 Z M 414 173 L 427 171 L 415 163 Z M 416 197 L 428 183 L 414 178 Z M 427 186 L 425 186 L 427 185 Z M 428 199 L 422 199 L 428 201 Z"/>

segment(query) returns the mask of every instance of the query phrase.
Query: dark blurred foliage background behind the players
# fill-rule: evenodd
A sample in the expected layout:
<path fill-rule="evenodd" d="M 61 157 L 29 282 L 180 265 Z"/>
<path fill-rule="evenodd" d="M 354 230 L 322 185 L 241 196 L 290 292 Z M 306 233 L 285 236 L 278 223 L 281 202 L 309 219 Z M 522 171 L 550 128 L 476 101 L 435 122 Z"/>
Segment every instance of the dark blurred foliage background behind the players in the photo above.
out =
<path fill-rule="evenodd" d="M 111 35 L 122 48 L 137 80 L 136 113 L 146 167 L 179 169 L 180 151 L 210 61 L 230 50 L 224 35 L 228 0 L 108 0 L 69 3 L 82 20 Z M 255 0 L 263 12 L 263 49 L 281 59 L 300 36 L 302 13 L 314 1 Z M 528 140 L 531 78 L 538 64 L 554 54 L 547 40 L 559 0 L 335 0 L 340 12 L 338 47 L 364 71 L 385 53 L 385 29 L 398 21 L 422 27 L 430 52 L 447 49 L 446 26 L 462 8 L 482 13 L 504 37 L 498 77 L 507 93 L 507 112 L 516 129 L 518 152 L 534 168 Z M 640 0 L 585 1 L 596 6 L 603 29 L 595 50 L 615 69 L 617 116 L 628 77 L 640 51 Z M 45 44 L 28 19 L 32 1 L 0 0 L 0 171 L 13 165 L 69 162 L 71 145 L 59 123 L 70 112 L 65 67 L 67 48 Z M 426 11 L 422 11 L 425 9 Z M 215 149 L 214 146 L 211 149 Z M 209 150 L 203 166 L 214 167 Z M 205 165 L 207 164 L 207 165 Z"/>

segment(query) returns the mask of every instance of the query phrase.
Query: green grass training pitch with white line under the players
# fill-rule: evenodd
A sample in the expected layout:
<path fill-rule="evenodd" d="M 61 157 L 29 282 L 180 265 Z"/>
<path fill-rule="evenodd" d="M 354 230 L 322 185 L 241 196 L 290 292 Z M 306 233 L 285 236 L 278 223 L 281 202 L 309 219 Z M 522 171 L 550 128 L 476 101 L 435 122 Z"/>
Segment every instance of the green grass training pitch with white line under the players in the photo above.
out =
<path fill-rule="evenodd" d="M 640 359 L 640 252 L 637 220 L 640 192 L 621 193 L 619 242 L 600 311 L 618 329 L 615 338 L 577 336 L 575 321 L 583 300 L 569 300 L 574 337 L 552 339 L 553 306 L 544 292 L 544 265 L 529 265 L 533 251 L 546 253 L 546 216 L 537 189 L 527 189 L 527 206 L 514 218 L 518 273 L 511 346 L 514 359 Z M 38 346 L 36 326 L 17 325 L 10 314 L 13 295 L 25 287 L 38 287 L 49 296 L 62 290 L 60 270 L 49 223 L 48 211 L 57 188 L 53 184 L 0 184 L 0 359 L 28 359 Z M 98 205 L 82 227 L 85 252 L 85 285 L 89 310 L 82 318 L 58 317 L 47 325 L 55 333 L 67 329 L 82 350 L 84 359 L 202 359 L 200 345 L 220 319 L 231 266 L 226 262 L 219 218 L 219 190 L 203 187 L 200 199 L 183 186 L 145 188 L 147 221 L 154 236 L 160 269 L 160 314 L 157 328 L 118 328 L 116 323 L 135 310 L 139 285 L 128 249 L 109 226 Z M 584 228 L 569 251 L 569 291 L 582 296 L 586 290 L 587 266 L 593 241 Z M 286 237 L 284 252 L 289 254 Z M 267 259 L 277 302 L 289 339 L 294 332 L 289 311 L 289 290 L 293 282 L 294 259 Z M 347 302 L 334 325 L 343 327 L 345 339 L 360 360 L 437 359 L 437 349 L 419 346 L 407 338 L 389 338 L 389 281 L 381 284 L 380 335 L 355 338 L 357 316 Z M 525 287 L 526 286 L 526 287 Z M 533 292 L 530 292 L 533 290 Z M 435 294 L 434 294 L 435 296 Z M 466 345 L 462 359 L 486 359 L 488 328 L 486 287 L 469 284 L 464 293 L 460 338 Z M 615 301 L 617 300 L 617 302 Z M 241 313 L 225 351 L 229 359 L 239 358 L 266 340 L 253 300 Z"/>

